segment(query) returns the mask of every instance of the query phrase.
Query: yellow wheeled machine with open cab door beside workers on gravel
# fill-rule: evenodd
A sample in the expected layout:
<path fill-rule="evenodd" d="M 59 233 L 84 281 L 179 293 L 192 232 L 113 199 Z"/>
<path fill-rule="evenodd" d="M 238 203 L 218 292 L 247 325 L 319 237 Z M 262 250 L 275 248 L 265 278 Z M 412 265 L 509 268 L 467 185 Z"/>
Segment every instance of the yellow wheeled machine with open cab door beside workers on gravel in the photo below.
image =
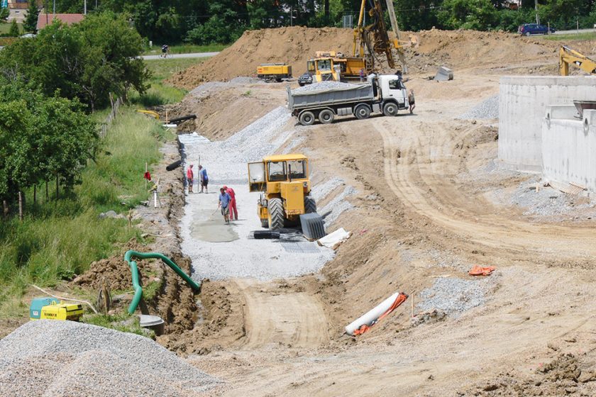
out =
<path fill-rule="evenodd" d="M 248 163 L 248 187 L 260 191 L 257 213 L 263 228 L 279 230 L 297 223 L 306 213 L 316 213 L 310 196 L 309 161 L 306 156 L 273 155 Z"/>

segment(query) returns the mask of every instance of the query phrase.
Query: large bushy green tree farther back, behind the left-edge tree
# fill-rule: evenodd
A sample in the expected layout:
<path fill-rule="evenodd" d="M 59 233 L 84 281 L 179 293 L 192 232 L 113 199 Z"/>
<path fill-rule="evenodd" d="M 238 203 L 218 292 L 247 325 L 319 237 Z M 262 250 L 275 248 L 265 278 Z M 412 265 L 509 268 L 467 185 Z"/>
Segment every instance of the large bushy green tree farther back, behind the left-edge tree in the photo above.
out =
<path fill-rule="evenodd" d="M 56 21 L 37 37 L 6 47 L 0 72 L 21 73 L 46 96 L 78 98 L 93 111 L 109 104 L 110 93 L 126 98 L 130 89 L 146 91 L 150 73 L 138 58 L 142 50 L 126 17 L 94 13 L 72 26 Z"/>

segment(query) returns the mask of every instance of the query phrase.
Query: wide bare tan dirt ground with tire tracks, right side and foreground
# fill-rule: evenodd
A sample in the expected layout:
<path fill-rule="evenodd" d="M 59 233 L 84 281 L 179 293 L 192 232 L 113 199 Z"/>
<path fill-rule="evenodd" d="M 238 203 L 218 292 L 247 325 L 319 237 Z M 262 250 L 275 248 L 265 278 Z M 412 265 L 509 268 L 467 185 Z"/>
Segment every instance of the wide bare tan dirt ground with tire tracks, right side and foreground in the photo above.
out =
<path fill-rule="evenodd" d="M 498 78 L 462 79 L 451 85 L 414 79 L 411 86 L 424 93 L 416 116 L 296 129 L 292 136 L 304 139 L 319 174 L 341 177 L 360 192 L 349 198 L 355 210 L 338 221 L 360 232 L 326 264 L 318 283 L 304 281 L 307 289 L 231 281 L 243 308 L 236 326 L 245 335 L 190 359 L 228 382 L 222 395 L 594 391 L 595 382 L 564 374 L 596 368 L 590 293 L 596 233 L 586 220 L 539 222 L 491 199 L 529 176 L 495 168 L 495 121 L 457 118 L 495 94 Z M 478 306 L 412 327 L 407 301 L 363 337 L 341 335 L 344 325 L 396 290 L 411 293 L 420 313 L 420 292 L 436 289 L 437 277 L 473 282 L 466 272 L 479 263 L 497 266 L 497 273 L 486 279 Z M 573 357 L 562 360 L 562 353 Z"/>

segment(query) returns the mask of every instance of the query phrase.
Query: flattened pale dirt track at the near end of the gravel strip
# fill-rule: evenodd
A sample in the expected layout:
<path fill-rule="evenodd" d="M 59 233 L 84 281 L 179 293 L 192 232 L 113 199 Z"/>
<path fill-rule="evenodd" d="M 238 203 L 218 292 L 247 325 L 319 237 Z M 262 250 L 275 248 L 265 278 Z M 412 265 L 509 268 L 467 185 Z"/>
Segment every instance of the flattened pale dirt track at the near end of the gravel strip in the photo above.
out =
<path fill-rule="evenodd" d="M 316 347 L 329 341 L 321 302 L 306 292 L 271 289 L 254 279 L 233 281 L 243 294 L 246 336 L 243 349 L 270 344 Z"/>

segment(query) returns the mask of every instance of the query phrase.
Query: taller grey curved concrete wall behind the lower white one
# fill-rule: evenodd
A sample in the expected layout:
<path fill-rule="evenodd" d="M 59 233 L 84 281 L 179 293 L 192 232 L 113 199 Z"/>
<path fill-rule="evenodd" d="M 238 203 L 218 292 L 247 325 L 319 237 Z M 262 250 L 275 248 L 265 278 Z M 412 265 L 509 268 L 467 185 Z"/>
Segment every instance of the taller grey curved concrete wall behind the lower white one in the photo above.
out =
<path fill-rule="evenodd" d="M 547 105 L 596 100 L 596 77 L 501 77 L 499 160 L 502 167 L 540 172 L 542 121 Z"/>

